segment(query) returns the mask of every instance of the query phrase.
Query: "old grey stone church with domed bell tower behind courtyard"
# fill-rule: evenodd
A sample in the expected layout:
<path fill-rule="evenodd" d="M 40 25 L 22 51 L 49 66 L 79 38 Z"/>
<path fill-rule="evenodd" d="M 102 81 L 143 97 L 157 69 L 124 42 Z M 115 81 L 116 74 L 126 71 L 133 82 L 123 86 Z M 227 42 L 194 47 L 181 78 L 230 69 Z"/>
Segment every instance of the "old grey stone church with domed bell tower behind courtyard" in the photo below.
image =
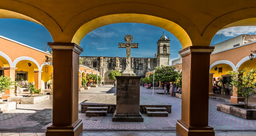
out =
<path fill-rule="evenodd" d="M 170 39 L 164 34 L 157 41 L 157 53 L 155 58 L 138 58 L 131 57 L 131 69 L 136 76 L 144 76 L 146 72 L 153 71 L 154 67 L 161 65 L 169 66 L 170 56 Z M 104 57 L 104 56 L 80 56 L 83 59 L 82 65 L 100 71 L 100 76 L 104 84 L 113 84 L 114 80 L 108 78 L 111 70 L 119 70 L 123 72 L 126 68 L 125 57 Z"/>

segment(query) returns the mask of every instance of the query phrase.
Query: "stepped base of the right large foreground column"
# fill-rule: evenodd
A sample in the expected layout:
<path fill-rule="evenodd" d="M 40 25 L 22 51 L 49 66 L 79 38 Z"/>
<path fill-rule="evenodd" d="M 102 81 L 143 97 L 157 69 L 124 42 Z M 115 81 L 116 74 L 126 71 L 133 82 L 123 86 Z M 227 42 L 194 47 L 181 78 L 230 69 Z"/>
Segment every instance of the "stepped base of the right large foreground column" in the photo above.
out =
<path fill-rule="evenodd" d="M 176 132 L 182 136 L 215 136 L 211 126 L 189 126 L 182 120 L 177 120 Z"/>

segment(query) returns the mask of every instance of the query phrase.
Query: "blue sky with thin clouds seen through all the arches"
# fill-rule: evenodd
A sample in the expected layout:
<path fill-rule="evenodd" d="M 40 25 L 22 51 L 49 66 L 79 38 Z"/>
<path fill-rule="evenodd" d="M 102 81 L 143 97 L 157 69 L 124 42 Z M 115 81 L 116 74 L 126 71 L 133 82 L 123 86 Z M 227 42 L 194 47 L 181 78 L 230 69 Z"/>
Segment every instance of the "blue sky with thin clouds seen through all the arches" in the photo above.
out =
<path fill-rule="evenodd" d="M 125 57 L 125 48 L 118 48 L 118 43 L 125 43 L 124 36 L 133 36 L 132 43 L 139 43 L 139 49 L 131 49 L 132 57 L 154 57 L 157 40 L 165 31 L 170 37 L 170 61 L 179 58 L 182 48 L 179 40 L 162 28 L 140 23 L 117 23 L 103 26 L 87 34 L 80 46 L 84 52 L 80 56 L 119 56 Z M 256 27 L 232 27 L 219 31 L 211 45 L 241 34 L 256 34 Z M 0 19 L 0 35 L 19 41 L 34 48 L 46 51 L 47 42 L 52 42 L 51 34 L 45 27 L 18 19 Z"/>

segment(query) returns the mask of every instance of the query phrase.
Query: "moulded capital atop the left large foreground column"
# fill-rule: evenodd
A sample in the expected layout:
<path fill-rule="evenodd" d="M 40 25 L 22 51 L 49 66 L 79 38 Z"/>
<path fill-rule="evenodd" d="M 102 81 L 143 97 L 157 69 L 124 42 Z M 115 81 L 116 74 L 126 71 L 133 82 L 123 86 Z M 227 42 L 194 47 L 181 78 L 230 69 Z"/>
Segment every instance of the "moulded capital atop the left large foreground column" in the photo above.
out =
<path fill-rule="evenodd" d="M 60 42 L 48 42 L 47 45 L 49 47 L 51 47 L 53 50 L 54 49 L 61 49 L 61 50 L 73 50 L 75 52 L 77 52 L 78 54 L 80 54 L 81 52 L 83 52 L 83 48 L 81 48 L 80 46 L 78 46 L 75 43 L 60 43 Z"/>

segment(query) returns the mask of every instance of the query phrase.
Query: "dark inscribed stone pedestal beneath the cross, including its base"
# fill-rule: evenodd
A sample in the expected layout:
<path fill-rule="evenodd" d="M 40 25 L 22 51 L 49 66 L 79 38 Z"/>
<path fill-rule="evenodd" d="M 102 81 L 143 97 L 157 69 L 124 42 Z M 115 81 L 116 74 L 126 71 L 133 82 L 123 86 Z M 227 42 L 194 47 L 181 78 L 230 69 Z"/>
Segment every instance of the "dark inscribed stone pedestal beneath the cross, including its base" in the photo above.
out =
<path fill-rule="evenodd" d="M 116 76 L 116 111 L 112 121 L 143 121 L 140 115 L 140 79 Z"/>

